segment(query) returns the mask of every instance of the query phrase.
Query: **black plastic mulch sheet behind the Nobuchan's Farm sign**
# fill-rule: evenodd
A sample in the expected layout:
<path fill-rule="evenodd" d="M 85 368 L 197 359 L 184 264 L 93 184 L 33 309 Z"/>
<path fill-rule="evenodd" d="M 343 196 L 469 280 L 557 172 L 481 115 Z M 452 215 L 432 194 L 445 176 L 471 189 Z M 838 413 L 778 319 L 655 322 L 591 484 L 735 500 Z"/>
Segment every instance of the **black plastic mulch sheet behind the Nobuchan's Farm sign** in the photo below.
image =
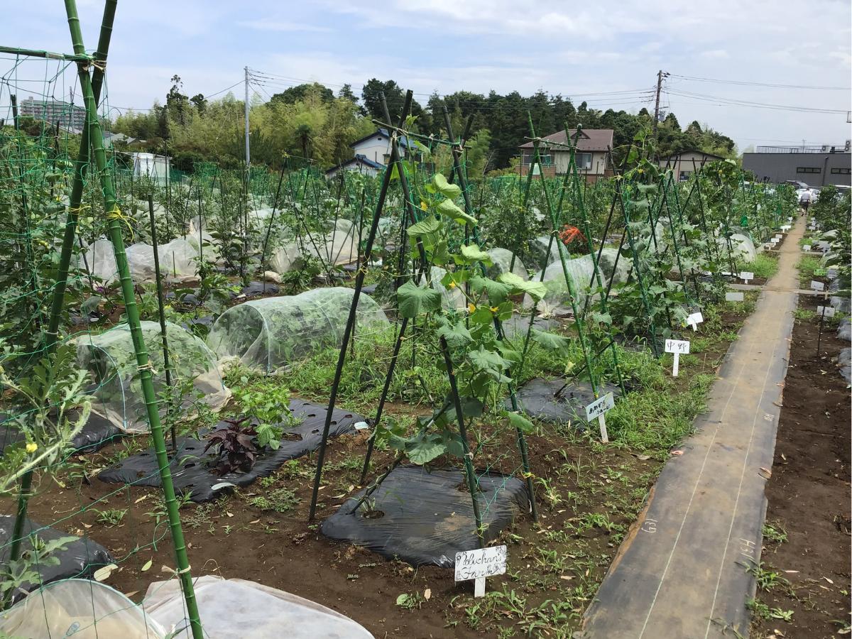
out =
<path fill-rule="evenodd" d="M 514 477 L 478 471 L 477 481 L 476 498 L 487 543 L 498 538 L 518 515 L 527 513 L 529 498 L 527 487 Z M 344 502 L 320 531 L 412 566 L 451 568 L 458 551 L 479 547 L 470 525 L 474 510 L 462 469 L 400 466 L 353 513 L 365 492 Z"/>

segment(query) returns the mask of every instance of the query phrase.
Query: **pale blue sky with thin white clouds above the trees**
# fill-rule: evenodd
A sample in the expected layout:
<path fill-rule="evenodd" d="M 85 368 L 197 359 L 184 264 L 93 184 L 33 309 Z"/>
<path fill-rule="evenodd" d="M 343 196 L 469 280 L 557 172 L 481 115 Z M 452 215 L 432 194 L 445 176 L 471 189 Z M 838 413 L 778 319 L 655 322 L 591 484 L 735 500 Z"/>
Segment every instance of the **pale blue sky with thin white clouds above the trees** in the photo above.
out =
<path fill-rule="evenodd" d="M 848 139 L 849 0 L 605 0 L 575 9 L 567 2 L 517 0 L 147 0 L 118 3 L 107 82 L 112 107 L 147 108 L 164 100 L 170 78 L 188 95 L 211 95 L 258 72 L 252 91 L 264 100 L 305 80 L 331 89 L 369 78 L 394 79 L 425 102 L 429 93 L 543 89 L 591 107 L 653 109 L 659 69 L 663 106 L 682 126 L 692 120 L 749 145 L 837 144 Z M 87 49 L 97 42 L 103 3 L 78 0 Z M 0 43 L 70 51 L 61 4 L 15 3 L 0 22 Z M 13 92 L 38 95 L 59 63 L 0 59 Z M 682 78 L 712 78 L 724 83 Z M 762 87 L 771 83 L 835 87 Z M 49 84 L 56 97 L 74 88 L 68 72 Z M 243 86 L 233 87 L 241 97 Z M 618 93 L 616 93 L 618 92 Z M 227 92 L 226 92 L 227 93 Z M 681 94 L 681 95 L 678 95 Z M 692 95 L 682 95 L 692 94 Z M 219 94 L 224 95 L 224 94 Z M 0 86 L 0 117 L 9 86 Z M 841 112 L 799 112 L 738 106 Z"/>

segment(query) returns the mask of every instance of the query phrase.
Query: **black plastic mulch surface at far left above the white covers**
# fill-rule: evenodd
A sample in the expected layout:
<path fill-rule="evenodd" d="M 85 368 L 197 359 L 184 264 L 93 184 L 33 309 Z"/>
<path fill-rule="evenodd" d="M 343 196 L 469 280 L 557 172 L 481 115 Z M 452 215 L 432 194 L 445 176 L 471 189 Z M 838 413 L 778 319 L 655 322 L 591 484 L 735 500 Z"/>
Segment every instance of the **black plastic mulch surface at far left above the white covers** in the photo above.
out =
<path fill-rule="evenodd" d="M 14 529 L 14 515 L 0 515 L 0 565 L 5 566 L 9 561 L 9 550 L 11 546 L 12 531 Z M 55 528 L 42 527 L 35 521 L 26 519 L 24 521 L 23 533 L 26 538 L 21 542 L 21 551 L 26 552 L 32 550 L 31 533 L 35 532 L 37 538 L 42 541 L 53 541 L 62 537 L 75 537 L 63 533 Z M 26 582 L 21 585 L 21 588 L 26 591 L 35 590 L 43 584 L 49 584 L 51 581 L 59 579 L 71 579 L 76 577 L 79 579 L 89 579 L 98 568 L 111 564 L 114 560 L 110 555 L 109 550 L 92 541 L 88 537 L 79 537 L 75 541 L 66 544 L 66 550 L 57 550 L 51 553 L 51 556 L 59 560 L 58 565 L 39 564 L 33 566 L 37 571 L 41 583 Z M 18 601 L 23 597 L 20 590 L 15 590 L 13 600 Z"/>

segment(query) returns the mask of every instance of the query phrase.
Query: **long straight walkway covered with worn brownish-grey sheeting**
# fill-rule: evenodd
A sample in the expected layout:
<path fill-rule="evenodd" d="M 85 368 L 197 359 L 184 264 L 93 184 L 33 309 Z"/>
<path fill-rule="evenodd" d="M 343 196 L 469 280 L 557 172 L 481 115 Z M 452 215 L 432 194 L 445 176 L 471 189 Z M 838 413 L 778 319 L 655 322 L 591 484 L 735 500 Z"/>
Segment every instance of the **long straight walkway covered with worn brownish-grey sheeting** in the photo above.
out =
<path fill-rule="evenodd" d="M 648 508 L 586 613 L 584 636 L 697 639 L 747 634 L 760 559 L 803 225 L 713 384 L 696 435 L 659 477 Z"/>

